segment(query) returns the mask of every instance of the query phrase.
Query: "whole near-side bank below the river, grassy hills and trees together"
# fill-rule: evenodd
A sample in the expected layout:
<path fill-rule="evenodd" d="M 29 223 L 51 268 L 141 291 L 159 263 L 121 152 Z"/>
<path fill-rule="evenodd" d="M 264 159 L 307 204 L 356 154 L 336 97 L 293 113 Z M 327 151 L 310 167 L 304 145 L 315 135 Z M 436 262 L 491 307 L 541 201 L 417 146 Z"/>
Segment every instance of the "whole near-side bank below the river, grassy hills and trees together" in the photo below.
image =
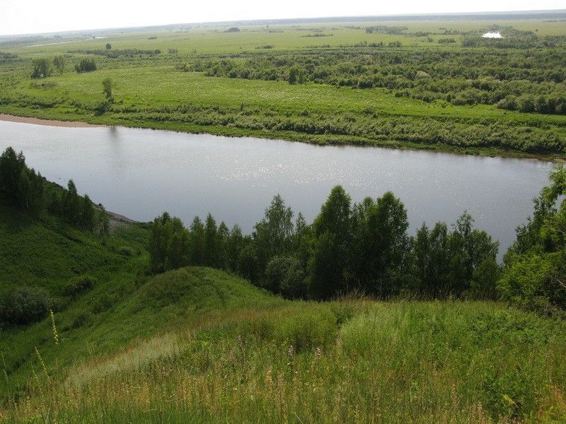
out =
<path fill-rule="evenodd" d="M 564 167 L 502 266 L 467 214 L 410 237 L 392 193 L 109 230 L 9 148 L 0 192 L 0 420 L 566 419 Z"/>

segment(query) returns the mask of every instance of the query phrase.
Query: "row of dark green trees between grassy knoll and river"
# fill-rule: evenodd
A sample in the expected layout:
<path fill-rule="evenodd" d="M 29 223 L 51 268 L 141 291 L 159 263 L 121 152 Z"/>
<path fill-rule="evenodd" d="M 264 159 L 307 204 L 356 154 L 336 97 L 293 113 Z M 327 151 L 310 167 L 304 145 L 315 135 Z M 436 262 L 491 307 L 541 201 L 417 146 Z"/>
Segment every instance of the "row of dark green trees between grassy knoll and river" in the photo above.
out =
<path fill-rule="evenodd" d="M 352 204 L 337 186 L 313 223 L 301 213 L 293 218 L 279 195 L 250 235 L 217 225 L 210 214 L 185 228 L 163 213 L 152 228 L 151 270 L 213 266 L 288 298 L 329 299 L 350 290 L 380 298 L 495 296 L 498 244 L 474 229 L 467 213 L 452 230 L 423 225 L 410 237 L 405 206 L 391 192 Z"/>

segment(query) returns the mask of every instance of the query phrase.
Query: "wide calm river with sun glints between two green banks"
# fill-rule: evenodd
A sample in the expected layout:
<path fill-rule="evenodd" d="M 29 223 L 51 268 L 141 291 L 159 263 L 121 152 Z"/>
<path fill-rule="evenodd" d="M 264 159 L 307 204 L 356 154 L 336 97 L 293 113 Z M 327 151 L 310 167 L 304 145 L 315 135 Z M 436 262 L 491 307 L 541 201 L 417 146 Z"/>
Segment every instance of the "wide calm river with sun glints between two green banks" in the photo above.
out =
<path fill-rule="evenodd" d="M 428 151 L 0 122 L 0 148 L 7 146 L 23 151 L 47 179 L 64 185 L 72 178 L 79 192 L 136 220 L 168 211 L 190 223 L 210 211 L 250 232 L 279 193 L 311 222 L 330 189 L 342 184 L 354 201 L 393 191 L 408 209 L 410 234 L 423 221 L 454 223 L 467 209 L 502 252 L 552 167 Z"/>

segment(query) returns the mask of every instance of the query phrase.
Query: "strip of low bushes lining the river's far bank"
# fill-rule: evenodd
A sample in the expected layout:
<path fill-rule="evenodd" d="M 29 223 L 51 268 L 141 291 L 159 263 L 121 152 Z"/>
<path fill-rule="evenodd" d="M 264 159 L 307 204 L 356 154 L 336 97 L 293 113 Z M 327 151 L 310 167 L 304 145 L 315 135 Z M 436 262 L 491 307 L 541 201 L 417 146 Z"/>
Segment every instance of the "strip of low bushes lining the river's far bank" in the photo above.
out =
<path fill-rule="evenodd" d="M 297 83 L 304 78 L 296 74 Z M 92 98 L 63 100 L 31 94 L 0 92 L 0 105 L 48 109 L 70 104 L 81 110 L 100 113 L 100 101 Z M 237 107 L 217 105 L 120 105 L 108 106 L 120 119 L 144 122 L 183 122 L 199 126 L 225 126 L 231 129 L 291 131 L 297 139 L 312 143 L 359 143 L 414 146 L 450 146 L 469 149 L 504 149 L 524 153 L 561 154 L 566 139 L 555 126 L 542 122 L 449 119 L 443 117 L 404 117 L 380 114 L 371 107 L 340 115 L 324 110 L 279 110 L 275 107 Z M 282 136 L 289 137 L 289 133 Z"/>

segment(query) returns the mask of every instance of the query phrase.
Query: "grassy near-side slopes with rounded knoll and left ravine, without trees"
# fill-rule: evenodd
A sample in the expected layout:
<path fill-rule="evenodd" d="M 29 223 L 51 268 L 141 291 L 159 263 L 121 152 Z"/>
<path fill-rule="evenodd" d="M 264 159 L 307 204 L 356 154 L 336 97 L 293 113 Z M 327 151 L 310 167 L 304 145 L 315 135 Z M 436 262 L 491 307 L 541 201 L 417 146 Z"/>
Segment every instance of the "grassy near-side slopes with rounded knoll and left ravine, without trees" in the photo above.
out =
<path fill-rule="evenodd" d="M 2 422 L 566 420 L 564 322 L 493 302 L 291 302 L 198 267 L 151 277 L 145 225 L 101 242 L 0 218 L 4 285 L 59 300 L 54 325 L 0 331 Z M 98 283 L 62 294 L 81 273 Z"/>

